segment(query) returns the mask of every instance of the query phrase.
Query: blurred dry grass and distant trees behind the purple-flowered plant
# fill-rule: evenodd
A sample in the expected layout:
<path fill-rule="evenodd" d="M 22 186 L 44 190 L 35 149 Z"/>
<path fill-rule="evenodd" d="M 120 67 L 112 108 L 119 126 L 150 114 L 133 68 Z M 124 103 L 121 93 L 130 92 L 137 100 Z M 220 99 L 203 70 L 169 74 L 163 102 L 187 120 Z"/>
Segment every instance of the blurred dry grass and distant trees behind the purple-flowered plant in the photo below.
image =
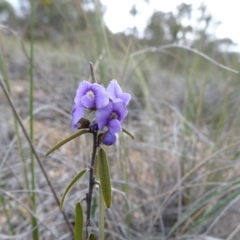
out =
<path fill-rule="evenodd" d="M 16 11 L 0 0 L 1 75 L 26 128 L 30 5 L 20 0 Z M 71 133 L 76 87 L 89 79 L 91 61 L 99 82 L 115 78 L 132 94 L 125 126 L 136 138 L 120 135 L 107 149 L 114 200 L 106 239 L 239 239 L 240 83 L 231 71 L 239 70 L 239 52 L 231 39 L 216 38 L 220 22 L 207 6 L 156 11 L 143 34 L 111 33 L 101 1 L 39 0 L 34 8 L 33 142 L 58 196 L 76 169 L 88 166 L 88 138 L 44 154 Z M 137 5 L 129 13 L 136 16 Z M 31 239 L 29 209 L 40 239 L 72 239 L 37 164 L 32 208 L 29 145 L 2 92 L 0 103 L 0 239 Z M 87 179 L 69 194 L 72 224 L 86 186 Z M 97 208 L 92 215 L 97 231 Z"/>

